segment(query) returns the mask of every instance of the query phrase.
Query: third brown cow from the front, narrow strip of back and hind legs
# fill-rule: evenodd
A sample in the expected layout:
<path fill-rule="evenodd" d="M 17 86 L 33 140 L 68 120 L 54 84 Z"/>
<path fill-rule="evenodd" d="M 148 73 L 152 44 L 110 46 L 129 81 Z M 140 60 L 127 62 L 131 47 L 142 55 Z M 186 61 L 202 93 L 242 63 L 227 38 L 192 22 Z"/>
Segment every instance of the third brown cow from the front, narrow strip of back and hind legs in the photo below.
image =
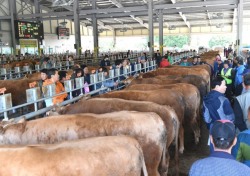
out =
<path fill-rule="evenodd" d="M 132 101 L 118 98 L 94 98 L 89 100 L 81 100 L 70 106 L 57 107 L 57 112 L 51 112 L 51 115 L 62 114 L 79 114 L 79 113 L 95 113 L 102 114 L 114 111 L 139 111 L 139 112 L 155 112 L 157 113 L 167 128 L 167 146 L 175 141 L 176 147 L 176 164 L 178 167 L 178 130 L 179 120 L 175 111 L 169 106 L 159 105 L 148 101 Z M 166 153 L 167 166 L 169 163 L 169 154 Z M 176 168 L 178 169 L 178 168 Z M 177 171 L 178 172 L 178 171 Z"/>

